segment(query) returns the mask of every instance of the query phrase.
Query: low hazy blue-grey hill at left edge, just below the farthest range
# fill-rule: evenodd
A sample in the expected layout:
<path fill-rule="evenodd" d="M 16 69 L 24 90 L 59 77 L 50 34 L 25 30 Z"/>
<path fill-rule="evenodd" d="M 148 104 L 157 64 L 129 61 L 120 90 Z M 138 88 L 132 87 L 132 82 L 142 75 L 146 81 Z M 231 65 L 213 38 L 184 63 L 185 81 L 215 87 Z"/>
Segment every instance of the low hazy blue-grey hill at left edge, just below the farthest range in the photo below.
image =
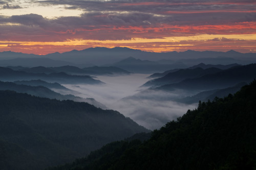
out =
<path fill-rule="evenodd" d="M 42 58 L 41 56 L 37 58 L 15 58 L 8 60 L 1 60 L 0 66 L 23 66 L 23 67 L 56 67 L 63 65 L 75 65 L 72 62 L 53 60 L 50 58 Z"/>

